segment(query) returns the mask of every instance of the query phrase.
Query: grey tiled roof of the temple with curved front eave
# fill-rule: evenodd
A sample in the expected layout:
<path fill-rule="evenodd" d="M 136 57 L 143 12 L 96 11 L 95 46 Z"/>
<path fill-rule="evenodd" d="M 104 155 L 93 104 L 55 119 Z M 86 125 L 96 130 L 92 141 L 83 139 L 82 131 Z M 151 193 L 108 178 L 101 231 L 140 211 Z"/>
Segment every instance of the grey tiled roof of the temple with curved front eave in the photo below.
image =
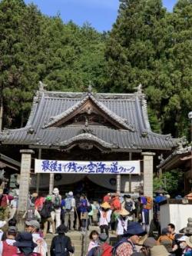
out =
<path fill-rule="evenodd" d="M 79 136 L 84 125 L 50 127 L 60 118 L 75 111 L 84 101 L 91 99 L 105 115 L 121 125 L 121 129 L 104 125 L 90 125 L 90 132 Z M 86 135 L 89 134 L 90 136 Z M 147 102 L 143 94 L 91 94 L 57 91 L 38 91 L 25 128 L 4 130 L 2 144 L 66 147 L 74 141 L 94 141 L 104 148 L 160 149 L 177 146 L 177 139 L 151 131 L 147 115 Z"/>

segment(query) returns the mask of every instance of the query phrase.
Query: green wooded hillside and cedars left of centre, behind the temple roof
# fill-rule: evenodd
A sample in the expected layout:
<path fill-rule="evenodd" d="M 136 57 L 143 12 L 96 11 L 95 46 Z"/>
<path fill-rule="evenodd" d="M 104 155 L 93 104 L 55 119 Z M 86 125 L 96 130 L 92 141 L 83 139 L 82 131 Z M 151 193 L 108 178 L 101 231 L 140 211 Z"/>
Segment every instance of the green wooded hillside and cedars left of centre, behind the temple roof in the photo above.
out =
<path fill-rule="evenodd" d="M 104 36 L 64 24 L 22 0 L 0 2 L 0 86 L 4 126 L 25 124 L 38 81 L 49 90 L 82 91 L 104 83 Z"/>

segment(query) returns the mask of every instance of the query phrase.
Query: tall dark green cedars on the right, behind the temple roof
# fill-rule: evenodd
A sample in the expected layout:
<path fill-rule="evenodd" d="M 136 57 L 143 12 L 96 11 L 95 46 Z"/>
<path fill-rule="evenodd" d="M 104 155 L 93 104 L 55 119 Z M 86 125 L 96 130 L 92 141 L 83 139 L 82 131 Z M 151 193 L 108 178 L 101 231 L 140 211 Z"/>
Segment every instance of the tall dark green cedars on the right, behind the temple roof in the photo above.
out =
<path fill-rule="evenodd" d="M 160 123 L 164 133 L 186 135 L 187 112 L 192 105 L 192 3 L 180 0 L 172 14 L 166 12 L 161 0 L 120 2 L 105 52 L 105 88 L 132 92 L 141 83 L 147 94 L 152 128 L 157 131 Z"/>

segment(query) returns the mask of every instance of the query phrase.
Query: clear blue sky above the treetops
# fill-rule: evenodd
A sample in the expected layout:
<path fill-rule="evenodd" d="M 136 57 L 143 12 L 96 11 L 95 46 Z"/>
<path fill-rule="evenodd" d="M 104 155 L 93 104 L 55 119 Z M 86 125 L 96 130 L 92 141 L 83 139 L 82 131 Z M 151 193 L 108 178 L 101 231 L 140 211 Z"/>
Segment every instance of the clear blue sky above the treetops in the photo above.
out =
<path fill-rule="evenodd" d="M 72 20 L 78 25 L 89 22 L 98 31 L 108 31 L 118 14 L 118 0 L 25 0 L 33 2 L 46 15 L 61 14 L 64 22 Z M 177 0 L 163 0 L 164 6 L 172 10 Z"/>

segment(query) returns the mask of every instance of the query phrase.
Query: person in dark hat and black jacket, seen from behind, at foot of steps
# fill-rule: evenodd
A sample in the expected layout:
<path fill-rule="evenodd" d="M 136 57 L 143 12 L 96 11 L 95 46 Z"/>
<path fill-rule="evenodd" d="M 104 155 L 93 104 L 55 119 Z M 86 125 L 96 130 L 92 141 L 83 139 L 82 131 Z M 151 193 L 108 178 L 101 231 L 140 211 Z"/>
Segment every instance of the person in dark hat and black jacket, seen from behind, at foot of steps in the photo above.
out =
<path fill-rule="evenodd" d="M 61 255 L 61 251 L 65 256 L 69 256 L 70 252 L 74 253 L 74 246 L 71 244 L 71 239 L 65 235 L 68 232 L 68 228 L 64 224 L 61 224 L 57 228 L 58 235 L 51 241 L 50 254 L 51 256 Z"/>

